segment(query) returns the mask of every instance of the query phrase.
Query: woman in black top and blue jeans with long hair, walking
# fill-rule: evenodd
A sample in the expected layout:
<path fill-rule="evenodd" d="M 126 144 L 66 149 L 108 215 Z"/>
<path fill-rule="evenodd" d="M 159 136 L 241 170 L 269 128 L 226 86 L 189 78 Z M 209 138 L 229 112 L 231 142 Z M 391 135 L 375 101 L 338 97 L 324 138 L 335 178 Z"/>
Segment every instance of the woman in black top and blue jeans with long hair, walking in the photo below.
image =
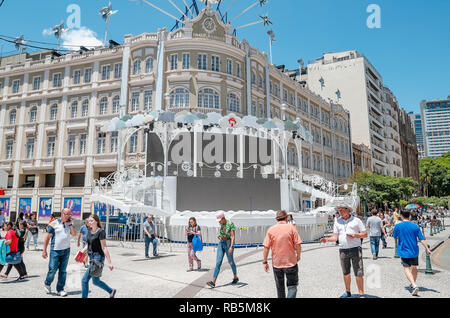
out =
<path fill-rule="evenodd" d="M 88 252 L 89 254 L 89 267 L 83 276 L 81 281 L 81 297 L 87 298 L 89 294 L 89 280 L 92 278 L 92 282 L 95 286 L 100 287 L 105 290 L 110 298 L 114 298 L 116 295 L 116 290 L 112 289 L 100 280 L 100 277 L 94 277 L 90 275 L 91 267 L 94 261 L 98 261 L 102 264 L 105 262 L 105 257 L 108 259 L 109 269 L 113 270 L 114 266 L 111 262 L 111 256 L 109 255 L 108 248 L 106 247 L 106 233 L 102 229 L 102 224 L 97 215 L 93 214 L 88 219 L 89 231 L 87 234 L 87 244 L 82 250 L 83 253 Z"/>

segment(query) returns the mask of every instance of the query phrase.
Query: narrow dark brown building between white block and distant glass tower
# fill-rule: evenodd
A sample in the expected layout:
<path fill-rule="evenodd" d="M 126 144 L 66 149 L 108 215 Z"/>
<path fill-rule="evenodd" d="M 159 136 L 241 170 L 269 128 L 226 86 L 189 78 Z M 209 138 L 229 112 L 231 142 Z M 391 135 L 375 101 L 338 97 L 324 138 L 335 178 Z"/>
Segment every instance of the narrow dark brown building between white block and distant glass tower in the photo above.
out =
<path fill-rule="evenodd" d="M 414 125 L 405 109 L 399 110 L 398 118 L 403 177 L 419 182 L 419 151 Z"/>

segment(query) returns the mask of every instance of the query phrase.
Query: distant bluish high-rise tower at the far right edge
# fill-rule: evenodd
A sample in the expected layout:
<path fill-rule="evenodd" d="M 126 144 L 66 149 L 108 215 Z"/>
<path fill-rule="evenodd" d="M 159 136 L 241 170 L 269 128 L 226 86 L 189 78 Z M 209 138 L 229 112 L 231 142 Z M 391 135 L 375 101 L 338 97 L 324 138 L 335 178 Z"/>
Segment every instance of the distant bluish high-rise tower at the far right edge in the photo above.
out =
<path fill-rule="evenodd" d="M 437 158 L 450 151 L 450 96 L 447 99 L 422 101 L 425 155 Z"/>

